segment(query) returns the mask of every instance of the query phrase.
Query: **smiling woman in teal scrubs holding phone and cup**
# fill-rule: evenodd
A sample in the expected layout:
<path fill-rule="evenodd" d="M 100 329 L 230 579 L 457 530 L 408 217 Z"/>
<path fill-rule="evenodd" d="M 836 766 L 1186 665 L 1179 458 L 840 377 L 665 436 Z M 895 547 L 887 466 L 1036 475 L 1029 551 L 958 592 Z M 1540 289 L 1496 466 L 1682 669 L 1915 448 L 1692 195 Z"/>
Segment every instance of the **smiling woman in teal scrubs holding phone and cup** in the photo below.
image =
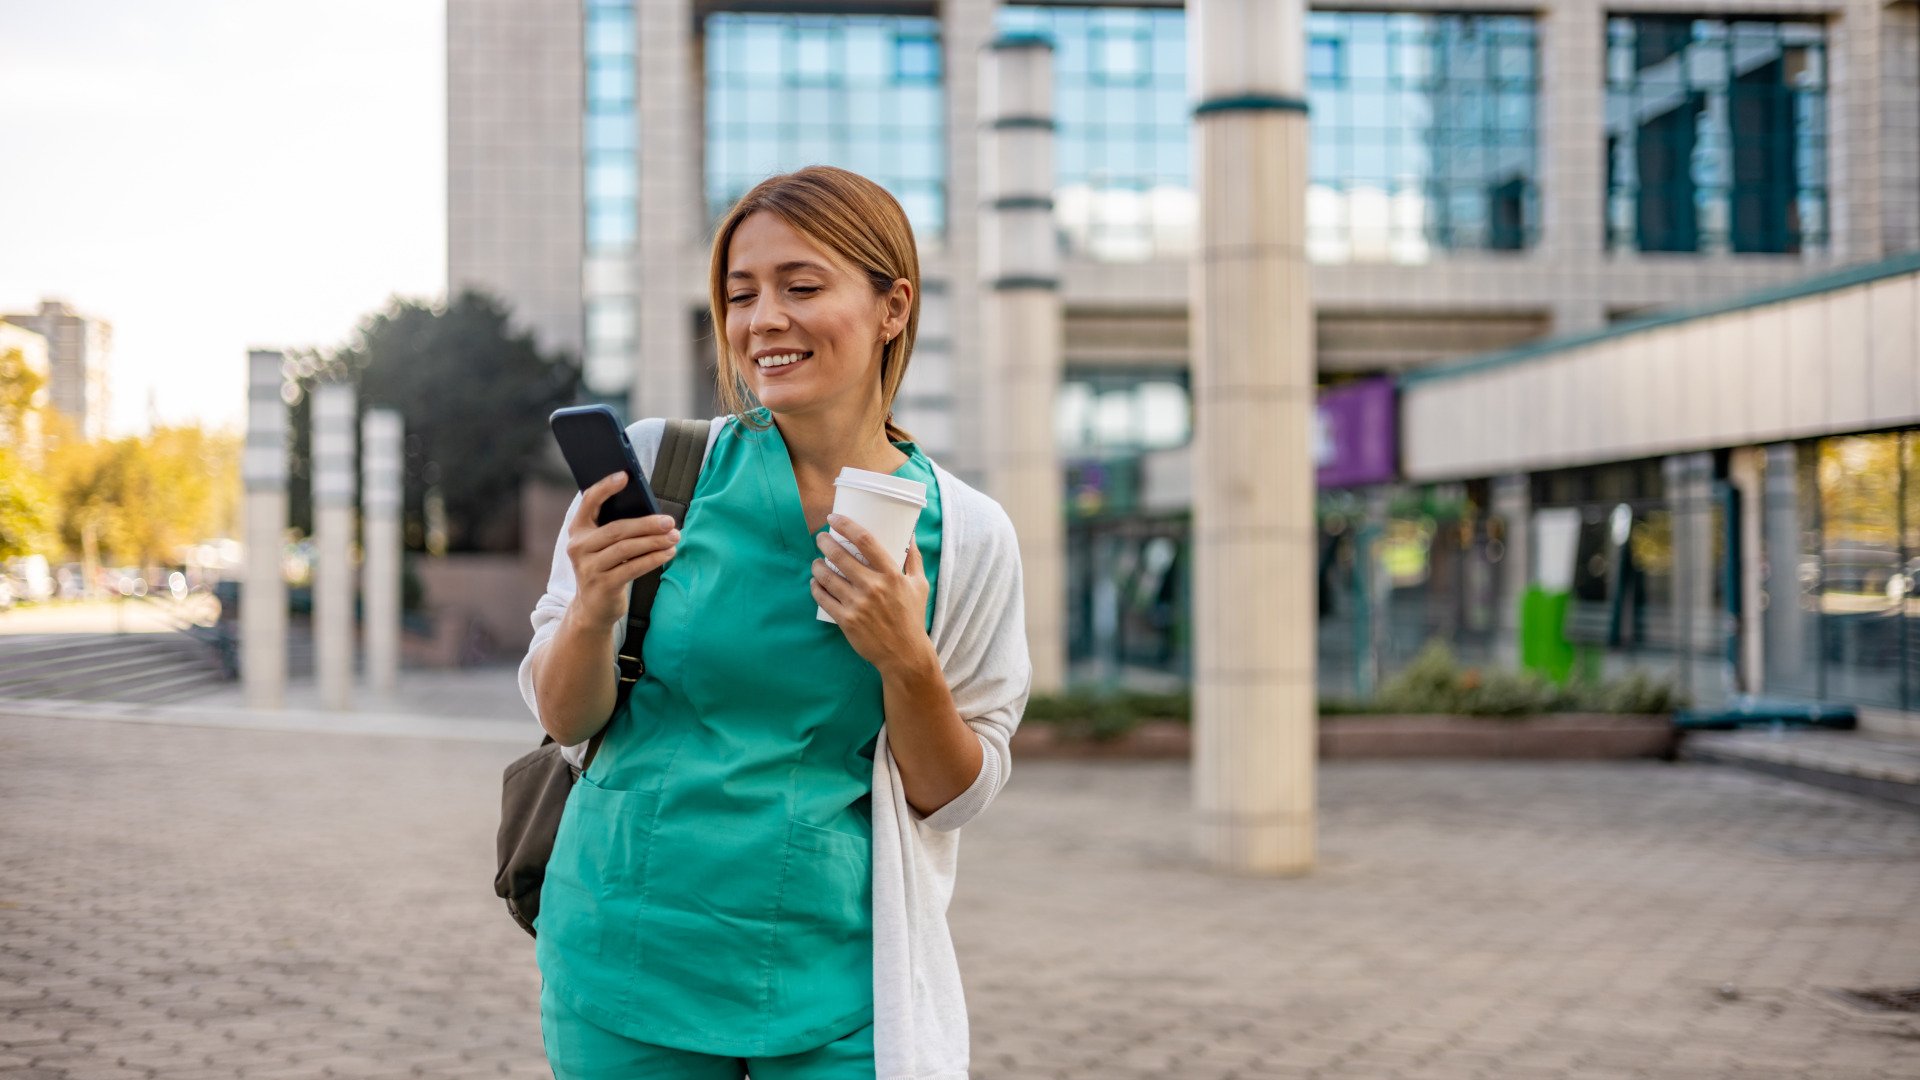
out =
<path fill-rule="evenodd" d="M 760 183 L 714 234 L 710 302 L 732 415 L 684 534 L 595 527 L 624 479 L 588 488 L 520 665 L 576 761 L 607 726 L 541 890 L 547 1057 L 561 1080 L 966 1080 L 947 901 L 1027 701 L 1014 530 L 891 423 L 920 263 L 883 188 Z M 630 429 L 647 471 L 662 429 Z M 904 571 L 829 513 L 847 465 L 927 484 Z M 660 565 L 609 719 L 628 584 Z"/>

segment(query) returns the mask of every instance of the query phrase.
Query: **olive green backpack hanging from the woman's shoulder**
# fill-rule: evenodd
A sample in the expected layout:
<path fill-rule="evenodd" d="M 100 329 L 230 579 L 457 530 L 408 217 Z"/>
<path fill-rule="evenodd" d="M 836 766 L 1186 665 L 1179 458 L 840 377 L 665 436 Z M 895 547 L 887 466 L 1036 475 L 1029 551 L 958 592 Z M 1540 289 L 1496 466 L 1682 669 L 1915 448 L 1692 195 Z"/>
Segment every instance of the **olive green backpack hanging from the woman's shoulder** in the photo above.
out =
<path fill-rule="evenodd" d="M 653 502 L 662 513 L 674 517 L 674 525 L 685 523 L 687 503 L 693 502 L 693 486 L 701 479 L 701 463 L 707 459 L 708 421 L 666 421 L 666 436 L 660 438 L 660 454 L 653 461 Z M 612 715 L 601 730 L 588 740 L 586 763 L 593 761 L 601 738 L 612 719 L 626 709 L 628 694 L 645 675 L 639 661 L 639 644 L 647 638 L 647 623 L 653 619 L 653 596 L 660 590 L 660 567 L 634 580 L 626 601 L 626 642 L 620 648 L 620 686 L 616 690 Z M 574 790 L 574 780 L 586 765 L 574 769 L 561 757 L 561 746 L 553 736 L 543 736 L 540 746 L 507 767 L 501 776 L 499 796 L 499 836 L 495 853 L 499 869 L 493 874 L 493 894 L 507 901 L 507 915 L 528 934 L 534 932 L 534 919 L 540 915 L 540 884 L 547 878 L 547 859 L 553 855 L 553 838 L 561 830 L 561 813 L 566 809 L 566 796 Z"/>

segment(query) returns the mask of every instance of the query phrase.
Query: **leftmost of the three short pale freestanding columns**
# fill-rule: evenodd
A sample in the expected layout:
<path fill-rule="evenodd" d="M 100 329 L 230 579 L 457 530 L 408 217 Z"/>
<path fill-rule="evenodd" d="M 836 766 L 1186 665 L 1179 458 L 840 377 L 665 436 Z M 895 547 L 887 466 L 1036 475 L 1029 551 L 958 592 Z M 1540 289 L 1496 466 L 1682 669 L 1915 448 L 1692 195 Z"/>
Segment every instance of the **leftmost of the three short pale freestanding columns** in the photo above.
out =
<path fill-rule="evenodd" d="M 240 682 L 250 709 L 286 703 L 286 580 L 280 546 L 286 534 L 286 398 L 284 357 L 248 354 L 246 578 L 240 592 Z"/>

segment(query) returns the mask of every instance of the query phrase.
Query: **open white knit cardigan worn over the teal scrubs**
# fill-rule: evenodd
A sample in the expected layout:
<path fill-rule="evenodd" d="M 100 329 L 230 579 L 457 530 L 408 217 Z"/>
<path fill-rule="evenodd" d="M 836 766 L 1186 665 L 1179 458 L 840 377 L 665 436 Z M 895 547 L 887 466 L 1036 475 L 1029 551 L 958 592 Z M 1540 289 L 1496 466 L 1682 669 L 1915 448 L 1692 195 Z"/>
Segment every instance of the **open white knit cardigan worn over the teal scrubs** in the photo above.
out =
<path fill-rule="evenodd" d="M 716 417 L 707 448 L 732 423 Z M 653 473 L 666 421 L 628 427 L 639 467 Z M 966 994 L 947 932 L 960 861 L 960 826 L 1006 784 L 1014 767 L 1008 740 L 1020 726 L 1033 680 L 1027 655 L 1020 542 L 1000 503 L 933 465 L 941 492 L 941 567 L 933 598 L 933 648 L 954 705 L 979 736 L 981 769 L 973 784 L 945 807 L 922 817 L 906 801 L 900 767 L 887 749 L 887 726 L 874 748 L 874 1070 L 877 1080 L 968 1080 Z M 580 498 L 566 507 L 572 521 Z M 534 640 L 520 661 L 520 696 L 534 701 L 534 651 L 559 630 L 574 596 L 566 527 L 553 546 L 553 575 L 534 605 Z M 624 642 L 626 621 L 614 626 Z M 568 748 L 578 765 L 586 742 Z"/>

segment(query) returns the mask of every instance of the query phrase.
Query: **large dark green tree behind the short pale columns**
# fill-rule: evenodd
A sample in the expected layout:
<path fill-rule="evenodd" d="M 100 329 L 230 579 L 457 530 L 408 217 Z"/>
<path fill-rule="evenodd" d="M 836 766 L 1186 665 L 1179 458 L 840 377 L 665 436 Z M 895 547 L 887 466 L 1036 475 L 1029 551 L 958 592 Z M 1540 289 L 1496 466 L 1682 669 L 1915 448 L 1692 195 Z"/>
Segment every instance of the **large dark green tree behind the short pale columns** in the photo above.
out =
<path fill-rule="evenodd" d="M 574 402 L 572 356 L 543 354 L 509 327 L 499 302 L 463 292 L 445 307 L 394 298 L 361 323 L 353 344 L 296 354 L 288 369 L 300 386 L 288 477 L 296 528 L 311 532 L 311 392 L 349 380 L 361 411 L 394 407 L 405 417 L 407 548 L 424 548 L 428 488 L 445 502 L 447 550 L 520 548 L 520 484 L 551 440 L 547 413 Z"/>

